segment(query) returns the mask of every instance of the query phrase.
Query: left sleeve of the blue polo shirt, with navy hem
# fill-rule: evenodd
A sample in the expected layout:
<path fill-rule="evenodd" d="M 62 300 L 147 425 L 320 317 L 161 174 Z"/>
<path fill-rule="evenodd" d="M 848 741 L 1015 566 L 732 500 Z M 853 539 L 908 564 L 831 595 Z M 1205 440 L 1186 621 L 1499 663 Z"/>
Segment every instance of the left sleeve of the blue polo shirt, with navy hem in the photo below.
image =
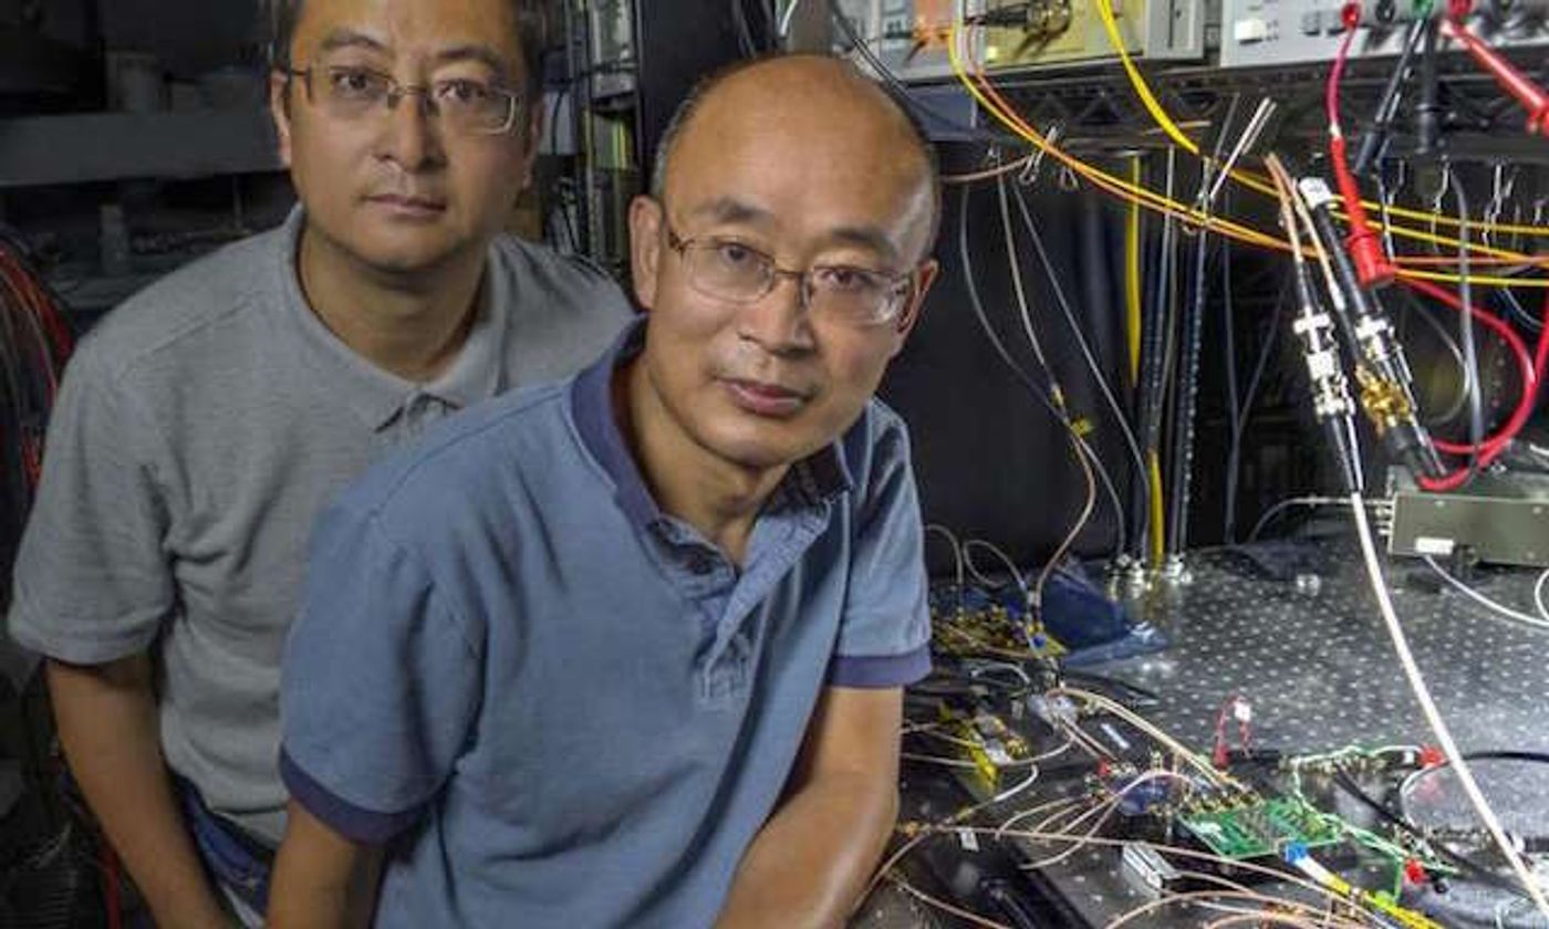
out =
<path fill-rule="evenodd" d="M 345 838 L 393 838 L 462 754 L 479 669 L 421 559 L 375 516 L 325 509 L 280 670 L 285 787 Z"/>

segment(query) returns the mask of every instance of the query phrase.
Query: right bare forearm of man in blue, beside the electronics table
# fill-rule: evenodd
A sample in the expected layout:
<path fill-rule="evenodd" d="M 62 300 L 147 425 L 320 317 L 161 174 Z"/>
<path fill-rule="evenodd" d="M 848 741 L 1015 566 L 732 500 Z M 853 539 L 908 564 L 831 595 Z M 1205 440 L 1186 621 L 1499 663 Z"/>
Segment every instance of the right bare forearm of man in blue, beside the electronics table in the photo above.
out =
<path fill-rule="evenodd" d="M 720 929 L 843 926 L 898 814 L 903 691 L 827 687 L 779 810 L 753 839 Z"/>

